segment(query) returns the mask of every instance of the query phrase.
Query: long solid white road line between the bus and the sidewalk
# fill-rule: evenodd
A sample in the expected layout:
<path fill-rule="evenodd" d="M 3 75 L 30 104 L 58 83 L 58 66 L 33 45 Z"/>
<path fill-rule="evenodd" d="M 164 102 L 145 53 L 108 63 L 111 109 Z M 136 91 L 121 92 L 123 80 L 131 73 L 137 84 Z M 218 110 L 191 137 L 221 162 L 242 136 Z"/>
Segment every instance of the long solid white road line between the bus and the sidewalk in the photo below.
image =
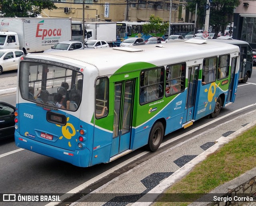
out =
<path fill-rule="evenodd" d="M 182 135 L 179 135 L 179 136 L 177 136 L 177 137 L 174 137 L 174 138 L 172 138 L 172 139 L 170 139 L 170 140 L 168 140 L 168 141 L 162 143 L 162 144 L 160 145 L 160 148 L 163 147 L 163 146 L 166 145 L 166 144 L 169 144 L 169 143 L 175 141 L 176 139 L 179 139 L 180 137 L 183 137 L 183 136 L 185 136 L 185 135 L 188 135 L 188 134 L 190 134 L 190 133 L 193 133 L 194 131 L 196 131 L 196 130 L 198 130 L 198 129 L 204 128 L 204 127 L 206 127 L 206 126 L 208 126 L 208 125 L 210 125 L 210 124 L 212 124 L 212 123 L 214 123 L 214 122 L 217 122 L 217 121 L 219 121 L 219 120 L 221 120 L 221 119 L 223 119 L 223 118 L 226 118 L 226 117 L 229 116 L 230 114 L 235 114 L 236 112 L 240 112 L 241 110 L 244 110 L 244 109 L 246 109 L 246 108 L 249 108 L 249 107 L 255 106 L 255 105 L 256 105 L 256 103 L 250 104 L 250 105 L 248 105 L 248 106 L 245 106 L 245 107 L 243 107 L 243 108 L 240 108 L 240 109 L 238 109 L 238 110 L 235 110 L 235 111 L 233 111 L 233 112 L 230 112 L 229 114 L 226 114 L 226 115 L 224 115 L 224 116 L 222 116 L 222 117 L 219 117 L 219 118 L 217 118 L 217 119 L 214 119 L 214 120 L 212 120 L 211 122 L 208 122 L 208 123 L 206 123 L 206 124 L 204 124 L 204 125 L 202 125 L 202 126 L 200 126 L 200 127 L 198 127 L 198 128 L 195 128 L 195 129 L 192 129 L 192 130 L 190 130 L 190 131 L 188 131 L 188 132 L 186 132 L 186 133 L 183 133 Z M 65 200 L 65 199 L 71 197 L 72 194 L 78 193 L 78 192 L 84 190 L 84 189 L 85 189 L 86 187 L 88 187 L 90 184 L 92 184 L 92 183 L 94 183 L 94 182 L 100 180 L 100 179 L 103 178 L 103 177 L 106 177 L 107 175 L 113 173 L 113 172 L 116 171 L 117 169 L 119 169 L 119 168 L 121 168 L 121 167 L 127 165 L 128 163 L 130 163 L 130 162 L 132 162 L 132 161 L 138 159 L 139 157 L 141 157 L 141 156 L 143 156 L 143 155 L 146 155 L 147 153 L 150 153 L 150 151 L 144 151 L 144 152 L 142 152 L 142 153 L 140 153 L 140 154 L 138 154 L 138 155 L 136 155 L 136 156 L 134 156 L 134 157 L 132 157 L 132 158 L 130 158 L 130 159 L 128 159 L 128 160 L 122 162 L 122 163 L 120 163 L 119 165 L 116 165 L 116 166 L 113 167 L 112 169 L 109 169 L 108 171 L 105 171 L 104 173 L 102 173 L 102 174 L 100 174 L 100 175 L 98 175 L 98 176 L 96 176 L 96 177 L 90 179 L 89 181 L 84 182 L 83 184 L 77 186 L 76 188 L 70 190 L 70 191 L 67 192 L 66 194 L 62 195 L 62 196 L 60 197 L 60 199 Z M 131 170 L 130 170 L 130 171 L 131 171 Z M 46 204 L 45 206 L 56 206 L 56 205 L 59 204 L 59 203 L 60 203 L 60 202 L 50 202 L 50 203 Z"/>

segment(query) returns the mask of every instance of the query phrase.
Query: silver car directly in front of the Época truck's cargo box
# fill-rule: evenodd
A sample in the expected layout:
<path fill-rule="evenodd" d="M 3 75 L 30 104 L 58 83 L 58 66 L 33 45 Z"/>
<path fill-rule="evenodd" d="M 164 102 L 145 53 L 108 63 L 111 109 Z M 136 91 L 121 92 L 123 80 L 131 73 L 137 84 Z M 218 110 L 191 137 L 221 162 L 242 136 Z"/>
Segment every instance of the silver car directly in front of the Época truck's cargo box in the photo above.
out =
<path fill-rule="evenodd" d="M 78 49 L 84 49 L 84 46 L 81 41 L 61 41 L 59 43 L 56 43 L 52 49 L 48 49 L 44 51 L 46 52 L 55 52 L 55 51 L 72 51 L 72 50 L 78 50 Z"/>

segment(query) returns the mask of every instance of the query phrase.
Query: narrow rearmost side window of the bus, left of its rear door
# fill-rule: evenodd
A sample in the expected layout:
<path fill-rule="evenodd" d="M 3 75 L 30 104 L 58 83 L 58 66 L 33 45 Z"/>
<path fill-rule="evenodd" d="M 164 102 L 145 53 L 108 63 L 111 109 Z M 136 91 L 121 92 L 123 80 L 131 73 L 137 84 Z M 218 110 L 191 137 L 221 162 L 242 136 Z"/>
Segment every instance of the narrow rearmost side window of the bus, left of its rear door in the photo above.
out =
<path fill-rule="evenodd" d="M 109 81 L 107 77 L 98 78 L 95 85 L 95 116 L 102 118 L 108 115 Z"/>

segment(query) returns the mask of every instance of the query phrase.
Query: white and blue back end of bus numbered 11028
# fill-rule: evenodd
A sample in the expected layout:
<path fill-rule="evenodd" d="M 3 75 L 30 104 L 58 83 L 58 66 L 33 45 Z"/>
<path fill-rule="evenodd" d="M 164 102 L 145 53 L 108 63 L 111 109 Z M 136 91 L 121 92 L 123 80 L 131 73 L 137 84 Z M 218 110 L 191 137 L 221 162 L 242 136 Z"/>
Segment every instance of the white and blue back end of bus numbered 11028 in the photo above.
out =
<path fill-rule="evenodd" d="M 20 61 L 16 145 L 86 167 L 90 156 L 85 149 L 87 129 L 78 110 L 84 69 L 40 55 L 28 54 Z"/>

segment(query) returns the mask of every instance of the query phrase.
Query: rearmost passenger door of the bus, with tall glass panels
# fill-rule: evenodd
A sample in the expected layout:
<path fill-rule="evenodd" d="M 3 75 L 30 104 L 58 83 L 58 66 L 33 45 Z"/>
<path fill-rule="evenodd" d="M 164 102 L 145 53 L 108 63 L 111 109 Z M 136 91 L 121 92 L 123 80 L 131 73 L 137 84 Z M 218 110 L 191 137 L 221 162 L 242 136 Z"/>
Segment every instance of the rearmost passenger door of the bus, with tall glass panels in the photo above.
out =
<path fill-rule="evenodd" d="M 110 157 L 130 149 L 134 80 L 114 84 L 114 122 Z"/>

